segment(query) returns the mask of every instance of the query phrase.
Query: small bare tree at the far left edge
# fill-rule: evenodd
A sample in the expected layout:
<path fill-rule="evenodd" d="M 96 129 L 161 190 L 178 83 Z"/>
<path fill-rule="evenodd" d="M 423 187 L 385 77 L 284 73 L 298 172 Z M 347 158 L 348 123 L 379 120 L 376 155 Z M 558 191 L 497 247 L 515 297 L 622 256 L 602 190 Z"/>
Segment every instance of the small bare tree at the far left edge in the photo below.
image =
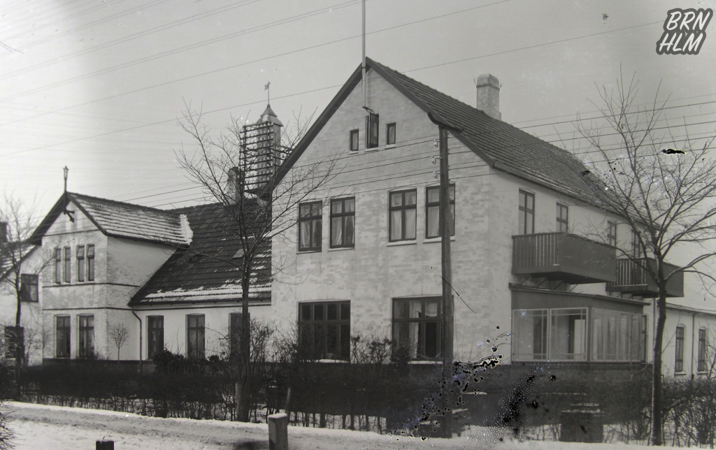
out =
<path fill-rule="evenodd" d="M 37 302 L 39 273 L 49 265 L 53 255 L 31 243 L 29 238 L 37 225 L 37 208 L 8 192 L 0 197 L 0 290 L 16 298 L 14 333 L 17 366 L 24 363 L 21 328 L 22 303 Z M 39 257 L 30 258 L 34 252 Z M 32 263 L 31 263 L 32 260 Z M 19 375 L 19 371 L 16 371 Z"/>

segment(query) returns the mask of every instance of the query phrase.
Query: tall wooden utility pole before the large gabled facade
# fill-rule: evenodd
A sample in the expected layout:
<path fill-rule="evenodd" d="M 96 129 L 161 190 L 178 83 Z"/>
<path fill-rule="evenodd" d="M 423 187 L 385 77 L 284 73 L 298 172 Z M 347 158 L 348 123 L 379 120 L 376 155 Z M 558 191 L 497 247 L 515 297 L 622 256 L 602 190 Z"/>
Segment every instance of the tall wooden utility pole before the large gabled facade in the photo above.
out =
<path fill-rule="evenodd" d="M 450 177 L 448 165 L 448 130 L 458 131 L 450 125 L 428 114 L 437 124 L 440 133 L 440 242 L 442 243 L 442 327 L 440 346 L 442 351 L 442 398 L 445 401 L 445 420 L 442 422 L 442 436 L 453 437 L 453 336 L 455 304 L 453 300 L 453 264 L 450 257 Z"/>

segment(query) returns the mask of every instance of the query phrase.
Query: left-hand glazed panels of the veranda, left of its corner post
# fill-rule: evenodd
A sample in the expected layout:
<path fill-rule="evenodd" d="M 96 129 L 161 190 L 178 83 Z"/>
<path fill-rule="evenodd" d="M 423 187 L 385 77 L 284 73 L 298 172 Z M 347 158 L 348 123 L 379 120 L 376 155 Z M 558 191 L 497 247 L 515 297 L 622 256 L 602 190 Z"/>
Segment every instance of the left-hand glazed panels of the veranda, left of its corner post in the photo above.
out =
<path fill-rule="evenodd" d="M 586 308 L 513 311 L 515 360 L 586 361 Z"/>

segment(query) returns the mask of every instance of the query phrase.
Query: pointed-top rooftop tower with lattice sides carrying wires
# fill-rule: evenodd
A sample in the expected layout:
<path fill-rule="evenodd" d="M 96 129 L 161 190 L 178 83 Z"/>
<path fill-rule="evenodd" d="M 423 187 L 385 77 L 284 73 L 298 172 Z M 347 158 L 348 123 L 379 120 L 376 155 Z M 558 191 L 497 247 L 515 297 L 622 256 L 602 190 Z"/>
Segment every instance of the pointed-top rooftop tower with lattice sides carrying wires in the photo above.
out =
<path fill-rule="evenodd" d="M 246 124 L 241 137 L 241 172 L 248 193 L 256 193 L 271 180 L 288 156 L 281 146 L 281 123 L 271 104 L 255 124 Z"/>

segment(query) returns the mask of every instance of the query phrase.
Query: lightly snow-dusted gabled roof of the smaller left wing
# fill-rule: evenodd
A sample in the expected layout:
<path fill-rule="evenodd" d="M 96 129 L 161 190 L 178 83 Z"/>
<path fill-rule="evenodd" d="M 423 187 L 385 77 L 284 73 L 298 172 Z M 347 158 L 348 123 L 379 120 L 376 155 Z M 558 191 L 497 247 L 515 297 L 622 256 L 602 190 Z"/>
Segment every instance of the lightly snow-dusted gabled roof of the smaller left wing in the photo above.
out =
<path fill-rule="evenodd" d="M 105 198 L 67 192 L 57 200 L 30 238 L 39 244 L 52 223 L 67 208 L 77 207 L 102 233 L 113 238 L 142 240 L 182 247 L 188 245 L 183 235 L 180 214 L 153 207 L 132 205 Z"/>

